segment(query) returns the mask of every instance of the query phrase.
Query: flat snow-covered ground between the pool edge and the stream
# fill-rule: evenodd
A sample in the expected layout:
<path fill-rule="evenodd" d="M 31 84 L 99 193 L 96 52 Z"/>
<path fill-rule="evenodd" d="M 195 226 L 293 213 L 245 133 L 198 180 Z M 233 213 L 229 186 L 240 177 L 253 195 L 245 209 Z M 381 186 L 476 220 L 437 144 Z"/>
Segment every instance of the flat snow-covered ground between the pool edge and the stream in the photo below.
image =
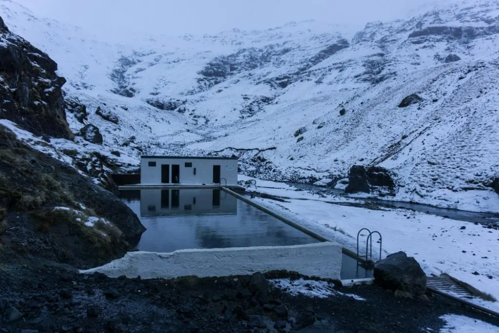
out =
<path fill-rule="evenodd" d="M 240 176 L 240 179 L 249 178 Z M 337 205 L 334 202 L 344 202 L 344 198 L 293 191 L 291 186 L 276 182 L 257 180 L 256 190 L 293 198 L 286 199 L 288 202 L 253 200 L 349 250 L 356 251 L 360 229 L 376 230 L 383 236 L 383 258 L 404 251 L 415 257 L 428 275 L 447 273 L 499 300 L 498 230 L 408 210 L 370 210 Z M 361 233 L 361 254 L 365 254 L 366 238 L 367 234 Z M 379 258 L 377 241 L 378 237 L 374 236 L 374 259 Z M 499 312 L 498 302 L 481 299 L 472 302 Z"/>

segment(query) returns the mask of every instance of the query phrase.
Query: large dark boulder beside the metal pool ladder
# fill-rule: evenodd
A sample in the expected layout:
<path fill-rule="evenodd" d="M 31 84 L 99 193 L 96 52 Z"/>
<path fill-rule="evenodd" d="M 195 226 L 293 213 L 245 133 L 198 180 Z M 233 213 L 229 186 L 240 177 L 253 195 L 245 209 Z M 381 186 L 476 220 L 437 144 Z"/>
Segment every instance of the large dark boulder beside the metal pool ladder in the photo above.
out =
<path fill-rule="evenodd" d="M 400 251 L 375 264 L 374 283 L 399 295 L 418 297 L 425 294 L 426 274 L 414 257 Z"/>

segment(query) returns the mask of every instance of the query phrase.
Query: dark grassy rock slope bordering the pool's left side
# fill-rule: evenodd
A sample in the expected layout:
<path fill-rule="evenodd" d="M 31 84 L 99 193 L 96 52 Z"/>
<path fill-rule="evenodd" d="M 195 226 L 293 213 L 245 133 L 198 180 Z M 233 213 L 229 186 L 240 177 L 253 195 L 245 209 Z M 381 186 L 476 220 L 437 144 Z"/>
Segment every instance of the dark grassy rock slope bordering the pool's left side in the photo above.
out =
<path fill-rule="evenodd" d="M 112 193 L 3 126 L 0 156 L 0 209 L 7 225 L 0 262 L 32 257 L 90 268 L 133 250 L 145 231 Z"/>

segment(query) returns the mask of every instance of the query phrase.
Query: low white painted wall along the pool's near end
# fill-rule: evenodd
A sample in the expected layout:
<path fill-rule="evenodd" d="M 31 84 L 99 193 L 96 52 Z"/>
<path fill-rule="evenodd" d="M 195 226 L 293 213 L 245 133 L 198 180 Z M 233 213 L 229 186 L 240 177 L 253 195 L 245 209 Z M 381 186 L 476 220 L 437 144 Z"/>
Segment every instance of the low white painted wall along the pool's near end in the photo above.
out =
<path fill-rule="evenodd" d="M 80 270 L 111 278 L 174 279 L 183 276 L 222 277 L 275 270 L 294 271 L 309 277 L 340 279 L 341 245 L 323 242 L 292 246 L 227 249 L 188 249 L 171 253 L 128 252 L 104 266 Z"/>

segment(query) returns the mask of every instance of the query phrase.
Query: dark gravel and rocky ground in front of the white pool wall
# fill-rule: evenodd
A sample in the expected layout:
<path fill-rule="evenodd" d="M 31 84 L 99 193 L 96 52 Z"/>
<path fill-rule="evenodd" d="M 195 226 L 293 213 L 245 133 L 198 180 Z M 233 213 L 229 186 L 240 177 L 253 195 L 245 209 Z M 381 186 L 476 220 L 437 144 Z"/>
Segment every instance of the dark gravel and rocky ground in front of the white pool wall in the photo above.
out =
<path fill-rule="evenodd" d="M 0 332 L 439 332 L 445 314 L 499 326 L 437 296 L 416 301 L 375 286 L 337 286 L 365 301 L 340 293 L 310 298 L 267 280 L 289 276 L 299 278 L 281 272 L 145 281 L 78 275 L 58 264 L 0 266 Z"/>

